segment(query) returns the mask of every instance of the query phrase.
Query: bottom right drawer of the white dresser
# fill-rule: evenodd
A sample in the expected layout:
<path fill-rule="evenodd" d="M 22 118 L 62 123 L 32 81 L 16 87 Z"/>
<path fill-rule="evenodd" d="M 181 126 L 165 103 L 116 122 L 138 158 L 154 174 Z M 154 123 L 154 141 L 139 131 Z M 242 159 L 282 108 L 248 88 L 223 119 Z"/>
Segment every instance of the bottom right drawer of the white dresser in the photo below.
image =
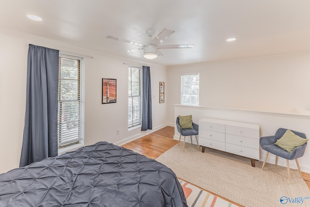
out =
<path fill-rule="evenodd" d="M 252 149 L 244 146 L 239 146 L 231 143 L 226 143 L 226 152 L 233 153 L 235 155 L 240 155 L 252 159 L 260 159 L 259 149 Z"/>

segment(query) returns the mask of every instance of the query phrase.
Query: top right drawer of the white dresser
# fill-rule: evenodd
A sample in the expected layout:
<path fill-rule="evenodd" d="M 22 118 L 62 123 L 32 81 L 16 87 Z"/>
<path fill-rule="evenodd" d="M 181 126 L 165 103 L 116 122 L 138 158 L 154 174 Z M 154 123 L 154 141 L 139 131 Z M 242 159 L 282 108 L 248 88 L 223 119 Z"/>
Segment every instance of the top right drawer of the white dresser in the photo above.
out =
<path fill-rule="evenodd" d="M 226 125 L 226 134 L 233 134 L 242 137 L 259 139 L 260 130 L 259 128 L 248 128 L 248 127 Z"/>

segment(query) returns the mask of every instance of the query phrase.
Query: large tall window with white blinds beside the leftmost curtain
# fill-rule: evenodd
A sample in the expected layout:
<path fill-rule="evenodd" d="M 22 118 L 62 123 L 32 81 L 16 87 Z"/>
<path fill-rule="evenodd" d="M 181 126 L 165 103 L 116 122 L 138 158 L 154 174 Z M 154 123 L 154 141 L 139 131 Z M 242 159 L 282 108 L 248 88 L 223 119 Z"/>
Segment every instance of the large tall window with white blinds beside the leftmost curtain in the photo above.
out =
<path fill-rule="evenodd" d="M 58 83 L 58 148 L 83 144 L 83 59 L 60 54 Z"/>

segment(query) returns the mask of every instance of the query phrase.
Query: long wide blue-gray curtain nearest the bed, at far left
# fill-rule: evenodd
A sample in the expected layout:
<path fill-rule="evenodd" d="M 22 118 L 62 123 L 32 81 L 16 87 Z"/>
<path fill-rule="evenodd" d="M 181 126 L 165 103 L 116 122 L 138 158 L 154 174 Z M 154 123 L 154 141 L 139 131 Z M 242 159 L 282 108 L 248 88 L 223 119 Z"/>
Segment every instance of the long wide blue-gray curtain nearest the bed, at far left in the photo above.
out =
<path fill-rule="evenodd" d="M 59 50 L 29 45 L 24 137 L 19 167 L 58 154 Z"/>

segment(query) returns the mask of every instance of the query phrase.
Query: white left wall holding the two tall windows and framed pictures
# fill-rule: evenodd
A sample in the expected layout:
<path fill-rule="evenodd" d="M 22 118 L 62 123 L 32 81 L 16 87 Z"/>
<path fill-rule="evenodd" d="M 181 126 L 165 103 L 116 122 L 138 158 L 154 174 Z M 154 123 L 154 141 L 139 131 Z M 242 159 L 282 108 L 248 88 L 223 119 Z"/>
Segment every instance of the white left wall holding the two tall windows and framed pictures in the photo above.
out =
<path fill-rule="evenodd" d="M 99 141 L 122 144 L 148 132 L 127 129 L 128 72 L 130 63 L 108 54 L 61 42 L 0 29 L 0 173 L 19 166 L 22 146 L 28 45 L 93 56 L 85 58 L 85 144 Z M 142 63 L 132 63 L 142 65 Z M 159 104 L 159 81 L 167 81 L 166 66 L 151 67 L 153 128 L 167 125 L 167 103 Z M 102 78 L 117 79 L 117 103 L 101 104 Z M 167 88 L 167 87 L 166 87 Z M 116 135 L 120 129 L 120 135 Z"/>

